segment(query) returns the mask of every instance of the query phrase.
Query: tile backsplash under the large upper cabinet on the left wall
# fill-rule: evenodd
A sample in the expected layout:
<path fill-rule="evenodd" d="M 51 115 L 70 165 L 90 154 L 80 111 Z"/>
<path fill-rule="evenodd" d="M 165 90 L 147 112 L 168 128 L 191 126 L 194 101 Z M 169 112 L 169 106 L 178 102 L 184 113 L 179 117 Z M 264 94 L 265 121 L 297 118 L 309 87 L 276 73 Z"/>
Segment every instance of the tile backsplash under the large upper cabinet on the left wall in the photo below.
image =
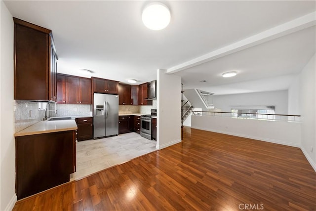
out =
<path fill-rule="evenodd" d="M 39 110 L 37 102 L 15 100 L 14 106 L 15 132 L 40 122 L 45 116 L 45 111 Z"/>

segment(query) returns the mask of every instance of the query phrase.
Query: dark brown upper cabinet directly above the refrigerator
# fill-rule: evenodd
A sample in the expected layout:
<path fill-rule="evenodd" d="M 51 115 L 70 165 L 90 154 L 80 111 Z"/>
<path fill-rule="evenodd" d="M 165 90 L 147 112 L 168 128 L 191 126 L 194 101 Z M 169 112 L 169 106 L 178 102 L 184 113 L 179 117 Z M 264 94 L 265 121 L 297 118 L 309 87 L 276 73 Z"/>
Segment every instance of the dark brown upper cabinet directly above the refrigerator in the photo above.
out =
<path fill-rule="evenodd" d="M 118 94 L 118 82 L 91 77 L 92 92 L 104 94 Z"/>

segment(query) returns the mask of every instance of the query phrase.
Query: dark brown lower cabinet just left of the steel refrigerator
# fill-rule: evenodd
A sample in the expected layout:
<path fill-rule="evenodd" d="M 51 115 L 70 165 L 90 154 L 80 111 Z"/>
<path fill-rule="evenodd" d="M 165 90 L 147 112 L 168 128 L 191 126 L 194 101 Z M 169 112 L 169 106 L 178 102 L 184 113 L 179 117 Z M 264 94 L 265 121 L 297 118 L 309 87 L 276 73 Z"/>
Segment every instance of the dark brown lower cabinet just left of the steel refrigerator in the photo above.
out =
<path fill-rule="evenodd" d="M 93 118 L 76 118 L 77 123 L 77 140 L 84 141 L 93 137 Z"/>

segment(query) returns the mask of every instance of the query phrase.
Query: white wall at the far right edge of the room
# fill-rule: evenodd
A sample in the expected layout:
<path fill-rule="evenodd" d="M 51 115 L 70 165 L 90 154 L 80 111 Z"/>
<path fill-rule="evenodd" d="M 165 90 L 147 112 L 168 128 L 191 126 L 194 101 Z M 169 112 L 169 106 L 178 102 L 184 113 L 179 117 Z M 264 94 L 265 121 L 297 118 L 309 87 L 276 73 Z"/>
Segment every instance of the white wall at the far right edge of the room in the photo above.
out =
<path fill-rule="evenodd" d="M 301 149 L 316 171 L 316 59 L 315 54 L 300 74 Z M 313 147 L 313 152 L 311 151 Z"/>

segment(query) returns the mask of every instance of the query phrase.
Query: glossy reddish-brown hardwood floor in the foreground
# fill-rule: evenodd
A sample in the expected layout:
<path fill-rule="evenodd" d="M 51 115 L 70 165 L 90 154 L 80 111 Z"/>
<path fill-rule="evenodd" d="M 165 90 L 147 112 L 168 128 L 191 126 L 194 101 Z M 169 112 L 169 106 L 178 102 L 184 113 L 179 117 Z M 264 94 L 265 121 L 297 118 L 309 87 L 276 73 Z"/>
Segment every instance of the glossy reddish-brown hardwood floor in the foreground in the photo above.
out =
<path fill-rule="evenodd" d="M 316 210 L 316 172 L 299 148 L 189 127 L 183 138 L 13 210 Z"/>

